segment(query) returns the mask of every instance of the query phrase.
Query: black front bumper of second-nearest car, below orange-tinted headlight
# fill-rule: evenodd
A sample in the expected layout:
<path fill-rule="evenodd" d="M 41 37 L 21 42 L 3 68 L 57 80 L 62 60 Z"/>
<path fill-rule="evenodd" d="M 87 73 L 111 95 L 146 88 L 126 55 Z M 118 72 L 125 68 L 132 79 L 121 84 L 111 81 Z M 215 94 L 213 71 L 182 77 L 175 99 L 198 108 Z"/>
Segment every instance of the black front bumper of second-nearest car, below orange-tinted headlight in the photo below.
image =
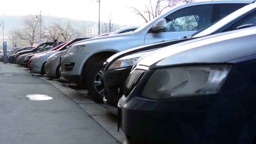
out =
<path fill-rule="evenodd" d="M 103 74 L 104 89 L 107 93 L 107 104 L 117 107 L 119 99 L 123 96 L 125 81 L 132 67 L 105 70 Z"/>

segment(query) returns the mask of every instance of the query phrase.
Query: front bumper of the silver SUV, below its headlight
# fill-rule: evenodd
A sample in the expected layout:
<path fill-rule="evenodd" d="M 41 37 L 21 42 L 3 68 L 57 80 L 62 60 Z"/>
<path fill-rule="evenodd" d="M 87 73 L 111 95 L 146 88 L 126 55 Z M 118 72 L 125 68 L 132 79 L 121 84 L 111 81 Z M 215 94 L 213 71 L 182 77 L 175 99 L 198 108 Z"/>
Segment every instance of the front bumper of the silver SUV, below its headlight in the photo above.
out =
<path fill-rule="evenodd" d="M 88 54 L 75 53 L 61 57 L 61 76 L 71 83 L 80 83 L 83 62 L 88 59 Z"/>

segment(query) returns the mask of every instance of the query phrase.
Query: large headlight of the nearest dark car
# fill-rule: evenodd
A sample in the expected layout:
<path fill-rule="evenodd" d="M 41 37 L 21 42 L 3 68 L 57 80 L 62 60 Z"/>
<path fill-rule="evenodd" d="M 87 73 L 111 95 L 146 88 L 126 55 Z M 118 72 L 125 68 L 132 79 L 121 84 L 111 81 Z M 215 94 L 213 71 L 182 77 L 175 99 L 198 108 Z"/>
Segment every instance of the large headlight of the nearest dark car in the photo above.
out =
<path fill-rule="evenodd" d="M 145 85 L 142 96 L 160 100 L 216 94 L 231 67 L 206 65 L 157 69 Z"/>

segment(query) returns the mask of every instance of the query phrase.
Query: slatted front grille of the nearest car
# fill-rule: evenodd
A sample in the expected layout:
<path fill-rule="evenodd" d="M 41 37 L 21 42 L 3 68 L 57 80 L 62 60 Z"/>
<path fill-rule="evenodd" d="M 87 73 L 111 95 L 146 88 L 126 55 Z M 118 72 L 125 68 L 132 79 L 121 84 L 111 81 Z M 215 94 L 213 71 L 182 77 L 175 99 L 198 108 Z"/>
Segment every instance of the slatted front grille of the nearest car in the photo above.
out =
<path fill-rule="evenodd" d="M 144 75 L 145 70 L 135 69 L 127 78 L 124 86 L 124 95 L 128 96 L 136 84 L 141 80 L 141 77 Z"/>

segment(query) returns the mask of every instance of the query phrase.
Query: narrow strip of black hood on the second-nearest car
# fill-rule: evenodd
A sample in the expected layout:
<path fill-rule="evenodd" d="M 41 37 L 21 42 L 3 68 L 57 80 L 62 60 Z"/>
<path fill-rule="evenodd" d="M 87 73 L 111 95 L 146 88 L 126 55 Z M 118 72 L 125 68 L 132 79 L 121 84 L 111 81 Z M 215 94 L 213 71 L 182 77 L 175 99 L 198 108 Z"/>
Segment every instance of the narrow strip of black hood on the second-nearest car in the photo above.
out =
<path fill-rule="evenodd" d="M 114 54 L 113 56 L 111 56 L 107 59 L 107 62 L 114 62 L 114 61 L 116 61 L 117 59 L 120 59 L 123 56 L 131 55 L 131 54 L 139 53 L 139 52 L 143 52 L 143 51 L 148 51 L 148 50 L 152 50 L 152 49 L 156 49 L 156 48 L 163 48 L 163 47 L 166 47 L 166 46 L 169 46 L 169 45 L 173 45 L 173 44 L 176 44 L 176 43 L 181 43 L 181 42 L 184 42 L 184 41 L 187 41 L 187 40 L 192 40 L 192 39 L 194 39 L 194 38 L 189 37 L 189 38 L 185 38 L 185 39 L 169 40 L 169 41 L 154 43 L 154 44 L 151 44 L 151 45 L 143 45 L 143 46 L 139 46 L 139 47 L 136 47 L 136 48 L 131 48 L 131 49 L 121 51 L 119 53 Z"/>

